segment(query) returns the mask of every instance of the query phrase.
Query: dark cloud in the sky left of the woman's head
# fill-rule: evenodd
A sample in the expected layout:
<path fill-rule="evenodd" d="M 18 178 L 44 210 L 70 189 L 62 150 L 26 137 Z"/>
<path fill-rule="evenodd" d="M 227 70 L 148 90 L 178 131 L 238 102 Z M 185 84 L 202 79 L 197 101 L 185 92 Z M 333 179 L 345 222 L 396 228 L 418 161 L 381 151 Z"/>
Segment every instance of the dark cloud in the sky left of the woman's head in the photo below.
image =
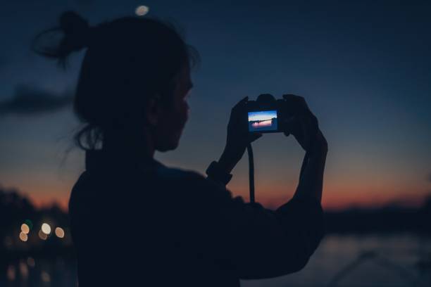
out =
<path fill-rule="evenodd" d="M 73 102 L 73 94 L 68 91 L 56 95 L 49 91 L 28 85 L 17 85 L 12 98 L 0 102 L 0 116 L 39 115 L 61 110 Z"/>

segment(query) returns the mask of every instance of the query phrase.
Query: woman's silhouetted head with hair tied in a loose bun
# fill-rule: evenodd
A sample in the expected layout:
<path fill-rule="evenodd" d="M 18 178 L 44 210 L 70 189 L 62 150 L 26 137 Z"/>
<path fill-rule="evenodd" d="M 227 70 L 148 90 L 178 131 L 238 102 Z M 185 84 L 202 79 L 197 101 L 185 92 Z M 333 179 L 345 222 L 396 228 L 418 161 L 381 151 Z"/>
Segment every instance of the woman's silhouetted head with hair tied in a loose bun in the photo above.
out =
<path fill-rule="evenodd" d="M 64 33 L 54 47 L 37 48 L 42 36 Z M 85 124 L 75 136 L 81 148 L 95 148 L 109 136 L 151 136 L 154 148 L 177 146 L 187 121 L 185 96 L 190 68 L 199 55 L 175 29 L 152 18 L 125 17 L 89 27 L 74 12 L 60 17 L 60 28 L 35 38 L 35 50 L 65 63 L 87 48 L 77 82 L 74 110 Z"/>

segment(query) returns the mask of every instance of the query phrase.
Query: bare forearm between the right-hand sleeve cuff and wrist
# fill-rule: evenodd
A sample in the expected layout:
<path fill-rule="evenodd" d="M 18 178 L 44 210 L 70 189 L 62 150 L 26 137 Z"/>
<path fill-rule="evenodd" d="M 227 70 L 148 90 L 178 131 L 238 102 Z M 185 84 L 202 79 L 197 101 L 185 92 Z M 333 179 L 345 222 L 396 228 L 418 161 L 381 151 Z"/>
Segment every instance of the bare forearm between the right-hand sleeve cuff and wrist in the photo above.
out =
<path fill-rule="evenodd" d="M 319 202 L 322 200 L 325 162 L 325 152 L 306 154 L 304 156 L 294 198 L 313 198 Z"/>

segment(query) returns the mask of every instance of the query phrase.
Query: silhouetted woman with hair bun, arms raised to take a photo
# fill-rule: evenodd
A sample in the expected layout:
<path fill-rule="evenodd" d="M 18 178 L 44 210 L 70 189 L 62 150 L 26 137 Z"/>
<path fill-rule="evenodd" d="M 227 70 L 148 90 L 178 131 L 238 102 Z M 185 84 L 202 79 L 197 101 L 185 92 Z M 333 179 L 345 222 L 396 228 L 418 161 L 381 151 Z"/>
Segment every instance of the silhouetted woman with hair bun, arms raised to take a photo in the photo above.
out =
<path fill-rule="evenodd" d="M 37 48 L 58 31 L 58 45 Z M 306 150 L 299 185 L 272 211 L 225 189 L 258 137 L 241 128 L 246 98 L 232 108 L 225 150 L 208 177 L 154 160 L 178 145 L 198 59 L 173 27 L 135 17 L 89 27 L 66 12 L 35 49 L 61 63 L 87 49 L 74 105 L 86 169 L 69 203 L 80 286 L 239 286 L 305 266 L 323 236 L 327 144 L 304 98 L 285 96 L 297 111 L 285 134 Z"/>

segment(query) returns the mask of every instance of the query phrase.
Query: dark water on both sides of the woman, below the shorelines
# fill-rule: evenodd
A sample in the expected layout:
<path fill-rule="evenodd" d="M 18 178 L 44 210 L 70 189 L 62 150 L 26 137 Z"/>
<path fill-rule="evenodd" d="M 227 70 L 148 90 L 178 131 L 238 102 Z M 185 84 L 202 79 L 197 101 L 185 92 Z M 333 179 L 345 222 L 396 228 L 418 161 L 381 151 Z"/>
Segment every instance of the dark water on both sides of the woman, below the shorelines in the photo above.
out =
<path fill-rule="evenodd" d="M 420 260 L 428 262 L 428 267 L 422 271 L 418 268 Z M 329 235 L 300 272 L 275 279 L 242 281 L 242 287 L 431 286 L 430 260 L 430 237 Z M 334 281 L 349 265 L 351 269 Z M 27 258 L 11 264 L 8 276 L 8 281 L 0 281 L 0 286 L 77 285 L 75 262 L 63 257 L 56 260 Z"/>

